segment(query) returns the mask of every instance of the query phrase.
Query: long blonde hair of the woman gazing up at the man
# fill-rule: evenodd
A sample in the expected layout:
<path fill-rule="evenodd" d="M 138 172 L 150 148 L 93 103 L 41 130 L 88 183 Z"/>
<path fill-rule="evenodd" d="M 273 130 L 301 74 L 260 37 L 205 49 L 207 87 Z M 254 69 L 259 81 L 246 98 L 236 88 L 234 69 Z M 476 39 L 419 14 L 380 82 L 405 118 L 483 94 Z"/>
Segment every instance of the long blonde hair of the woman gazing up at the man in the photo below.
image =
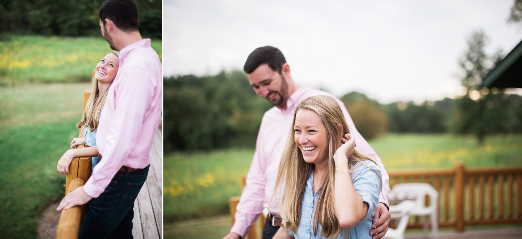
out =
<path fill-rule="evenodd" d="M 120 57 L 120 53 L 112 51 L 105 55 L 114 54 L 116 57 Z M 112 83 L 111 83 L 112 85 Z M 90 128 L 90 132 L 96 131 L 98 128 L 99 123 L 99 115 L 101 113 L 101 110 L 103 109 L 103 105 L 105 104 L 105 101 L 107 100 L 107 94 L 109 92 L 109 88 L 111 88 L 111 85 L 105 89 L 105 91 L 101 92 L 98 90 L 98 80 L 92 76 L 91 79 L 91 95 L 89 96 L 89 99 L 87 100 L 87 104 L 85 105 L 85 111 L 81 115 L 81 121 L 76 125 L 78 128 L 81 128 L 83 126 L 87 126 Z M 94 99 L 96 99 L 96 95 L 98 95 L 98 98 L 96 100 L 96 103 L 94 103 Z"/>

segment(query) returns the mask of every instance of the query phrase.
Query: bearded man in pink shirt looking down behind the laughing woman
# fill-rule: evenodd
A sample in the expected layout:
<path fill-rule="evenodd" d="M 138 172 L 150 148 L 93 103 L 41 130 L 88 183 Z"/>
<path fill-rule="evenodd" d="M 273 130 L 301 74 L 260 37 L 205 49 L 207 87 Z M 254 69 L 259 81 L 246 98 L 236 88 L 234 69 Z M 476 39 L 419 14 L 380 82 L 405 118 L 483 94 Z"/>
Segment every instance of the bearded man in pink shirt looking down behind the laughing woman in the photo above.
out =
<path fill-rule="evenodd" d="M 254 91 L 275 107 L 263 115 L 257 135 L 256 151 L 246 176 L 246 186 L 236 207 L 235 223 L 224 238 L 244 238 L 262 211 L 267 216 L 263 239 L 272 238 L 280 228 L 281 218 L 276 205 L 278 198 L 270 200 L 279 163 L 288 139 L 289 128 L 292 126 L 295 107 L 302 100 L 314 95 L 328 95 L 337 100 L 345 115 L 350 134 L 355 137 L 357 149 L 374 159 L 381 169 L 383 180 L 381 195 L 373 217 L 373 229 L 369 234 L 373 235 L 373 239 L 382 238 L 388 230 L 391 219 L 387 209 L 389 176 L 381 158 L 355 128 L 345 105 L 328 92 L 314 90 L 310 85 L 303 87 L 297 85 L 290 75 L 290 66 L 286 59 L 275 47 L 264 46 L 254 50 L 248 55 L 243 70 Z"/>

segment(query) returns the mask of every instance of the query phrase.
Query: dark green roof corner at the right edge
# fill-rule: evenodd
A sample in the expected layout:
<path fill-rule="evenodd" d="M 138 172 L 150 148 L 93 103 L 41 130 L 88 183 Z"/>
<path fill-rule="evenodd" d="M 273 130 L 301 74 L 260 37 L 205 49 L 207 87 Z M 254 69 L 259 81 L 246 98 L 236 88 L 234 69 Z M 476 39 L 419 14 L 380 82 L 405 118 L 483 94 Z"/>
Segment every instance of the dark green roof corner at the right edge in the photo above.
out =
<path fill-rule="evenodd" d="M 482 86 L 522 88 L 522 41 L 484 77 Z"/>

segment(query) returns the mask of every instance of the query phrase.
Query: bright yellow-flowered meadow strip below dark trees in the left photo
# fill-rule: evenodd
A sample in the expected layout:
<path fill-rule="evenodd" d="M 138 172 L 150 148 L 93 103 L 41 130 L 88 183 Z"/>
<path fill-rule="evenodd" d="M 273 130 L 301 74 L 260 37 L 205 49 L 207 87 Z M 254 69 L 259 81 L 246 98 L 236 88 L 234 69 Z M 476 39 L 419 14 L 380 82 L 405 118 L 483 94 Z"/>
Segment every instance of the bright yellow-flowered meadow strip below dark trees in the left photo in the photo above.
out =
<path fill-rule="evenodd" d="M 161 41 L 153 40 L 151 45 L 162 59 Z M 110 51 L 102 37 L 13 37 L 0 42 L 0 85 L 87 82 Z"/>

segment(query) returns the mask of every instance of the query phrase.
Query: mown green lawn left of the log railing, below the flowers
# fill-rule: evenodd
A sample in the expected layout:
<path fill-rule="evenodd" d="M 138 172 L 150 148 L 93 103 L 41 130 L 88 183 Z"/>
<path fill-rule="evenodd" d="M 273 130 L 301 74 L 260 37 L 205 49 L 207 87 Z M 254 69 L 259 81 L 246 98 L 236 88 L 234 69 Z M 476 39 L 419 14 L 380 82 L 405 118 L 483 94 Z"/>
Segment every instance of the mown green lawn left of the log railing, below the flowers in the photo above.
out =
<path fill-rule="evenodd" d="M 78 135 L 88 86 L 0 87 L 0 238 L 37 238 L 41 211 L 63 197 L 56 162 Z"/>

